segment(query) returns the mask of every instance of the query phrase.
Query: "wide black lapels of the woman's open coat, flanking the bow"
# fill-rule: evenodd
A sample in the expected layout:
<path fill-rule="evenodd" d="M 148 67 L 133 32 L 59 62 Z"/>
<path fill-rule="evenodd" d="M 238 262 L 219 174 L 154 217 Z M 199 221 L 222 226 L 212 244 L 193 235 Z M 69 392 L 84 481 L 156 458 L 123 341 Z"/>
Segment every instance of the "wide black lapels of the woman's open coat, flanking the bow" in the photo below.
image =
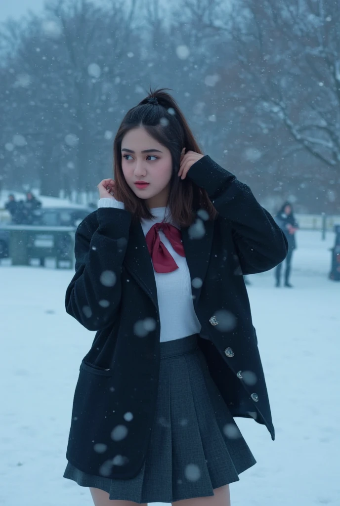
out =
<path fill-rule="evenodd" d="M 196 309 L 201 285 L 209 264 L 214 221 L 202 221 L 196 216 L 196 221 L 190 227 L 182 228 L 181 232 L 191 280 L 196 278 L 195 286 L 191 287 L 194 308 Z M 131 224 L 124 266 L 150 297 L 158 310 L 157 288 L 152 261 L 140 223 Z"/>

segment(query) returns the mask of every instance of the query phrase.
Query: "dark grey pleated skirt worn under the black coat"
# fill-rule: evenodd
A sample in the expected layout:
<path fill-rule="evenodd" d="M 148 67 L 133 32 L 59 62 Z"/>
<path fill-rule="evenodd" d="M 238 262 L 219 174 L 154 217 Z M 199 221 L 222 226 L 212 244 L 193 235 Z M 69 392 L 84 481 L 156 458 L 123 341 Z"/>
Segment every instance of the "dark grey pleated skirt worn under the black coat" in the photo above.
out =
<path fill-rule="evenodd" d="M 175 502 L 214 495 L 256 463 L 212 380 L 198 335 L 160 343 L 159 387 L 146 460 L 130 480 L 92 476 L 67 463 L 64 478 L 110 499 Z"/>

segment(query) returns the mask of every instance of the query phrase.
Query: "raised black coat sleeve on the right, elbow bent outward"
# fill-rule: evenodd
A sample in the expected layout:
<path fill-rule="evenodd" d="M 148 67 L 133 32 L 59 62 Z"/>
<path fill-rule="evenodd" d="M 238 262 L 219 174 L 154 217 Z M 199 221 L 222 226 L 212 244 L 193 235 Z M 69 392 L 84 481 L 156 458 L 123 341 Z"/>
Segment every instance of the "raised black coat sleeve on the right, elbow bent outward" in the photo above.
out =
<path fill-rule="evenodd" d="M 234 174 L 205 155 L 190 167 L 187 176 L 207 191 L 226 228 L 231 227 L 243 274 L 268 271 L 286 258 L 284 233 Z"/>

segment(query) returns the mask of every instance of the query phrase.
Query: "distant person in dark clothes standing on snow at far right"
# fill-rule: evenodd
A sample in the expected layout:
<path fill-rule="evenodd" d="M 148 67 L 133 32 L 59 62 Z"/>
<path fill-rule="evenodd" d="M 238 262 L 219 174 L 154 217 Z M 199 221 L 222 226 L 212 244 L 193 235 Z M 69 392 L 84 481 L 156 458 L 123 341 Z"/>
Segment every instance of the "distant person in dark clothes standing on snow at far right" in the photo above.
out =
<path fill-rule="evenodd" d="M 288 254 L 285 259 L 286 261 L 286 270 L 284 273 L 284 286 L 287 286 L 288 288 L 292 288 L 293 286 L 289 283 L 289 276 L 290 276 L 290 265 L 291 265 L 291 257 L 293 254 L 293 250 L 296 249 L 296 242 L 295 242 L 295 232 L 296 230 L 299 230 L 299 225 L 297 224 L 294 214 L 293 214 L 293 208 L 290 202 L 285 202 L 279 212 L 277 213 L 275 217 L 275 221 L 278 224 L 278 226 L 283 231 L 284 235 L 287 238 L 288 241 Z M 276 285 L 280 286 L 281 284 L 281 269 L 282 264 L 279 264 L 275 269 L 275 277 L 276 277 Z"/>

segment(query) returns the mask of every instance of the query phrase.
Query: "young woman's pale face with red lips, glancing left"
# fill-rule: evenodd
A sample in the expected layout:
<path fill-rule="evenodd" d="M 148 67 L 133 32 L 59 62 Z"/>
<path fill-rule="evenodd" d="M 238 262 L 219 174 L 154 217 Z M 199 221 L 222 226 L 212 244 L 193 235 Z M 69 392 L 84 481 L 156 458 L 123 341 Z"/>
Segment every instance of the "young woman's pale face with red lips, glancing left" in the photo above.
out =
<path fill-rule="evenodd" d="M 121 142 L 121 167 L 126 183 L 149 208 L 167 203 L 173 172 L 171 152 L 143 127 L 130 130 Z M 136 186 L 136 181 L 148 183 Z"/>

